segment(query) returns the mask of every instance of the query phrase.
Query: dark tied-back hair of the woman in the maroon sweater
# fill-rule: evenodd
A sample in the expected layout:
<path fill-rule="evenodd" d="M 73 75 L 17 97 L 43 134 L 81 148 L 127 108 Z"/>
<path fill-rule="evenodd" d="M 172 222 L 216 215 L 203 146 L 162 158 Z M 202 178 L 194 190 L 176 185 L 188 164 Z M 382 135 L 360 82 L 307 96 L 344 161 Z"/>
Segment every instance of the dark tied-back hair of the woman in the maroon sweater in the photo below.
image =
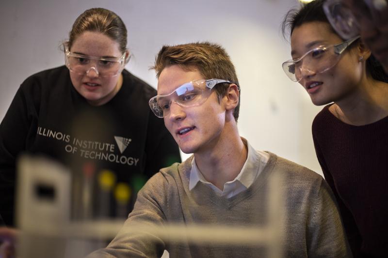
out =
<path fill-rule="evenodd" d="M 284 16 L 281 28 L 283 37 L 286 38 L 286 31 L 290 31 L 290 36 L 296 27 L 299 27 L 308 22 L 321 21 L 329 25 L 330 30 L 333 33 L 337 32 L 331 27 L 329 20 L 327 19 L 323 11 L 323 3 L 325 0 L 314 0 L 309 3 L 302 4 L 300 9 L 291 9 Z M 357 44 L 352 44 L 350 47 L 355 47 Z M 371 75 L 373 79 L 388 82 L 388 75 L 385 73 L 383 66 L 377 59 L 371 55 L 366 60 L 366 72 Z"/>

